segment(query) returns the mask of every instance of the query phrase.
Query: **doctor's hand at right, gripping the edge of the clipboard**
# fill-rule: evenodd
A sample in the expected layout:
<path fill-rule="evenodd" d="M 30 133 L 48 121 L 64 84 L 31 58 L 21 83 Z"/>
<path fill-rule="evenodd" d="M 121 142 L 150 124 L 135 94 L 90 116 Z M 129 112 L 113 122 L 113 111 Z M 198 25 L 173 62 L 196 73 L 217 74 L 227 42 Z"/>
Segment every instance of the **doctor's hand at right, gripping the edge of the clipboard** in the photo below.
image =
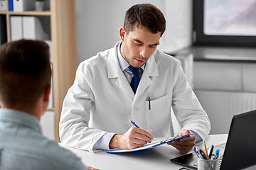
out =
<path fill-rule="evenodd" d="M 191 131 L 183 129 L 180 132 L 178 132 L 178 135 L 181 135 L 181 136 L 188 135 L 188 134 L 191 134 Z M 169 142 L 167 144 L 172 145 L 173 147 L 178 149 L 181 153 L 187 154 L 189 151 L 191 151 L 191 149 L 195 145 L 195 140 L 196 140 L 196 136 L 190 135 L 180 140 L 174 140 L 173 142 Z"/>

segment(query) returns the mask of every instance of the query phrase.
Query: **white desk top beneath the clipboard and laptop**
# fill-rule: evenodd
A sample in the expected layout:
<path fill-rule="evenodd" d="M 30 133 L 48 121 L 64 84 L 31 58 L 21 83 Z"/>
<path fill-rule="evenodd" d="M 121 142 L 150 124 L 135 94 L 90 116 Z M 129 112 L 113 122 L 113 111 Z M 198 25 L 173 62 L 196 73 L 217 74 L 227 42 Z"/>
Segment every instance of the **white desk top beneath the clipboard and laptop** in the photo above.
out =
<path fill-rule="evenodd" d="M 218 145 L 227 141 L 228 135 L 209 135 L 206 145 Z M 67 147 L 59 144 L 60 147 L 70 150 L 82 159 L 87 166 L 105 169 L 181 169 L 182 166 L 170 162 L 170 159 L 181 156 L 174 147 L 161 145 L 153 149 L 146 149 L 139 152 L 129 152 L 123 154 L 107 154 L 106 151 L 90 153 L 79 149 Z M 196 145 L 203 148 L 202 142 Z"/>

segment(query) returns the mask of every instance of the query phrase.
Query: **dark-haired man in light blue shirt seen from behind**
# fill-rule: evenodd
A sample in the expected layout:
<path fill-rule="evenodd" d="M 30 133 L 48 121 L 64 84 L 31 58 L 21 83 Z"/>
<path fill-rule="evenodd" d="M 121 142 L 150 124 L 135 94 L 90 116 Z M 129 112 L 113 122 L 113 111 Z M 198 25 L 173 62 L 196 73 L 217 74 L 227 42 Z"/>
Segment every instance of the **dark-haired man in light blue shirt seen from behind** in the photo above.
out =
<path fill-rule="evenodd" d="M 18 40 L 0 48 L 0 169 L 92 169 L 42 135 L 49 58 L 46 42 Z"/>

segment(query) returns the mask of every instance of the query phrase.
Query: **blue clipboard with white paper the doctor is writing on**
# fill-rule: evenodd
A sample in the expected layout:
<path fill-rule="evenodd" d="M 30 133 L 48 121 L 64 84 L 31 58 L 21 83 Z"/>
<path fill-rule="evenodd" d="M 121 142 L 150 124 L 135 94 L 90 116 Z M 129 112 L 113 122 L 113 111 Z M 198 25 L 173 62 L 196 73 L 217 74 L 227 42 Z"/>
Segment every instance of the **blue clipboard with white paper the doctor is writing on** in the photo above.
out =
<path fill-rule="evenodd" d="M 136 151 L 141 151 L 141 150 L 144 150 L 144 149 L 151 149 L 151 148 L 158 147 L 160 145 L 164 145 L 166 143 L 172 142 L 174 140 L 180 140 L 180 139 L 182 139 L 184 137 L 188 137 L 190 135 L 193 135 L 193 133 L 188 134 L 188 135 L 183 135 L 183 136 L 177 135 L 175 137 L 169 137 L 166 140 L 159 140 L 159 141 L 156 141 L 156 142 L 147 143 L 143 147 L 137 147 L 137 148 L 134 148 L 134 149 L 113 149 L 113 150 L 108 151 L 107 153 L 117 154 L 117 153 L 126 153 L 126 152 L 136 152 Z"/>

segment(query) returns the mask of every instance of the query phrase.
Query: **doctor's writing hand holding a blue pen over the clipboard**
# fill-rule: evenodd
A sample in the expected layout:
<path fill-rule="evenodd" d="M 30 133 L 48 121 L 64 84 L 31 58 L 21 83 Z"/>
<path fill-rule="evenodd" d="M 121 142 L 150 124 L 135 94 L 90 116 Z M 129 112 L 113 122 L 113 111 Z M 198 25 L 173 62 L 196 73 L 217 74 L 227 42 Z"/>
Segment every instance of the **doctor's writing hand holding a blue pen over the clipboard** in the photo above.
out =
<path fill-rule="evenodd" d="M 116 134 L 110 140 L 110 148 L 134 149 L 151 143 L 154 136 L 149 130 L 132 127 L 124 134 Z"/>

